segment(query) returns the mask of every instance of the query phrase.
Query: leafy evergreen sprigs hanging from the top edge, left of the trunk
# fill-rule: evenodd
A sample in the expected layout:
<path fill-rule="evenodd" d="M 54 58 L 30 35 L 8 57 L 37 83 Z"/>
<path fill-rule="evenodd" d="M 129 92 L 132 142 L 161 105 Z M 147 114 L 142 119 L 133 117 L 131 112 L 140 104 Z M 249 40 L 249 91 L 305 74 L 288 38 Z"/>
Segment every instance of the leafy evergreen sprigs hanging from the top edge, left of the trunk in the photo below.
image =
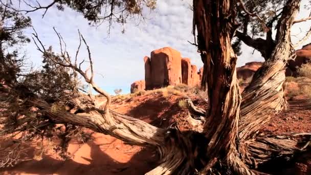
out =
<path fill-rule="evenodd" d="M 33 4 L 30 0 L 27 2 L 27 4 Z M 153 10 L 156 8 L 156 3 L 156 0 L 55 0 L 47 6 L 40 6 L 46 10 L 56 6 L 60 11 L 63 11 L 64 7 L 69 7 L 81 13 L 85 19 L 90 21 L 90 24 L 100 25 L 107 21 L 110 26 L 113 23 L 125 24 L 128 18 L 134 16 L 143 19 L 143 9 L 146 7 Z M 31 8 L 32 10 L 40 9 L 38 4 L 34 4 Z"/>

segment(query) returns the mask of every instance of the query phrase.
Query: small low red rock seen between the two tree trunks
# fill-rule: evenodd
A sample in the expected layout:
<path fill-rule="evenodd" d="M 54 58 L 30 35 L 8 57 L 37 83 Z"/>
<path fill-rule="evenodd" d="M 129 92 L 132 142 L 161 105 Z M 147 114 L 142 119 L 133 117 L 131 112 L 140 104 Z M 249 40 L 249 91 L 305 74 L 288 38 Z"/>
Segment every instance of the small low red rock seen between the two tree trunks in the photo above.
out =
<path fill-rule="evenodd" d="M 242 67 L 236 68 L 236 76 L 239 79 L 247 79 L 252 77 L 254 73 L 261 67 L 262 62 L 248 62 Z"/>

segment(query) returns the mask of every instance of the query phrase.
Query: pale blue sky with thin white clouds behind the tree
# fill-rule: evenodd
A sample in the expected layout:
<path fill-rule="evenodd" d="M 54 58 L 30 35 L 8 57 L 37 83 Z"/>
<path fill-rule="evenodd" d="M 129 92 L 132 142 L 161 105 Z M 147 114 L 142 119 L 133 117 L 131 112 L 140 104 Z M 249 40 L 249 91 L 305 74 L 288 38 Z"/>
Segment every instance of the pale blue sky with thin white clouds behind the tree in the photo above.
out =
<path fill-rule="evenodd" d="M 51 1 L 39 1 L 44 5 Z M 303 7 L 308 0 L 303 0 Z M 43 10 L 29 13 L 32 25 L 36 29 L 43 43 L 52 46 L 59 51 L 58 38 L 53 27 L 60 32 L 66 41 L 67 50 L 74 55 L 79 45 L 78 29 L 88 42 L 94 60 L 94 69 L 97 73 L 95 81 L 104 90 L 114 94 L 114 89 L 121 88 L 123 93 L 129 93 L 130 84 L 136 80 L 144 79 L 144 56 L 150 56 L 150 52 L 163 48 L 172 47 L 181 52 L 182 57 L 191 58 L 191 62 L 197 67 L 202 67 L 202 61 L 196 48 L 187 41 L 193 41 L 192 11 L 189 5 L 192 0 L 158 0 L 157 8 L 153 12 L 146 12 L 145 23 L 137 26 L 137 21 L 129 20 L 125 25 L 125 33 L 122 28 L 114 25 L 108 36 L 107 24 L 99 27 L 88 25 L 79 13 L 65 8 L 63 12 L 56 8 L 49 9 L 44 18 Z M 21 6 L 24 8 L 25 6 Z M 307 17 L 309 10 L 301 8 L 297 18 Z M 310 28 L 311 21 L 299 23 L 293 27 L 292 41 L 297 42 Z M 26 31 L 31 36 L 32 29 Z M 295 36 L 294 36 L 295 35 Z M 311 42 L 306 40 L 303 44 Z M 298 47 L 298 49 L 301 47 Z M 33 42 L 24 48 L 29 59 L 37 66 L 41 63 L 41 54 L 36 50 Z M 81 48 L 80 59 L 86 57 L 85 48 Z M 239 56 L 237 65 L 241 66 L 249 61 L 262 61 L 258 52 L 242 46 L 243 54 Z M 103 77 L 101 75 L 103 75 Z"/>

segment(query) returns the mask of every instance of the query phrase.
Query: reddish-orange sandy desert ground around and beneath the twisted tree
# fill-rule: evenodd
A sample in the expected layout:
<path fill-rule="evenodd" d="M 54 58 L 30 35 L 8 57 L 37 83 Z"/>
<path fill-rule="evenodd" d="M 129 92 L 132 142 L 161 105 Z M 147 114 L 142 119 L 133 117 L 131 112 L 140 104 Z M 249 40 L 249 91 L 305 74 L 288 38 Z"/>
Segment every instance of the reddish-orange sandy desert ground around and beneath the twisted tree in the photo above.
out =
<path fill-rule="evenodd" d="M 310 82 L 305 78 L 294 78 L 286 82 L 286 93 L 291 97 L 287 97 L 288 109 L 273 117 L 262 130 L 274 134 L 310 133 L 311 100 L 299 94 L 299 86 Z M 193 94 L 193 89 L 187 85 L 177 85 L 118 95 L 113 97 L 112 109 L 158 127 L 165 128 L 176 122 L 181 130 L 187 130 L 188 110 L 180 101 L 191 98 L 195 105 L 207 106 L 204 98 Z M 84 143 L 81 140 L 70 141 L 68 160 L 60 158 L 53 145 L 40 155 L 34 151 L 34 148 L 37 150 L 39 146 L 33 143 L 25 145 L 28 148 L 27 155 L 24 156 L 26 161 L 18 163 L 15 167 L 0 169 L 0 172 L 1 174 L 144 174 L 158 164 L 156 151 L 151 148 L 127 145 L 119 139 L 88 129 L 85 129 L 85 133 L 88 134 L 88 138 Z M 49 144 L 48 141 L 45 141 L 45 144 Z M 35 160 L 27 160 L 33 157 Z M 310 168 L 311 155 L 305 155 L 295 162 L 271 165 L 265 169 L 266 172 L 273 174 L 309 174 Z"/>

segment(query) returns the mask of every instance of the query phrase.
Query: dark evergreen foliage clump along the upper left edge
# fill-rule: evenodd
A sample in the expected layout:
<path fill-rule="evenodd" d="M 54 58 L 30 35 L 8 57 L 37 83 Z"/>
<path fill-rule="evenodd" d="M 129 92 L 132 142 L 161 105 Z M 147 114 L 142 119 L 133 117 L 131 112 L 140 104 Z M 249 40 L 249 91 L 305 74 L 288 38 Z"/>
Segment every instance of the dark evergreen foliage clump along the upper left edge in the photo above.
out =
<path fill-rule="evenodd" d="M 11 84 L 24 64 L 17 47 L 30 41 L 23 31 L 31 26 L 31 20 L 5 6 L 0 6 L 0 14 L 0 80 Z"/>

